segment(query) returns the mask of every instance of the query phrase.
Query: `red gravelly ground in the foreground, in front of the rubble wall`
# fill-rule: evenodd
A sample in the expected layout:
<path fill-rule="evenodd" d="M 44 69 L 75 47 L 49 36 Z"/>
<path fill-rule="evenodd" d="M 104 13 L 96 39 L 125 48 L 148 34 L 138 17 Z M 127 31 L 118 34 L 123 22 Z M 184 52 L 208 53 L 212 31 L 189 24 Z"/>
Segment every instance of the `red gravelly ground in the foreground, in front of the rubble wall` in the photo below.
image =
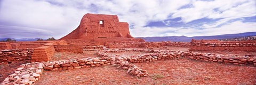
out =
<path fill-rule="evenodd" d="M 186 58 L 134 63 L 149 77 L 137 79 L 114 66 L 44 71 L 36 84 L 256 84 L 256 67 Z"/>

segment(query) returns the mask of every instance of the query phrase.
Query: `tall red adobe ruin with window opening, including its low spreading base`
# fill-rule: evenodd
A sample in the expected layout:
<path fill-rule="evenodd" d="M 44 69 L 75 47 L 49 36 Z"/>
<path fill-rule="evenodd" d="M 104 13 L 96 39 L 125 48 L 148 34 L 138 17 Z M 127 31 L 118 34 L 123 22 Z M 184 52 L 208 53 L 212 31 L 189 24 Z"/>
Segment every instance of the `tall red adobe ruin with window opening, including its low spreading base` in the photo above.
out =
<path fill-rule="evenodd" d="M 145 42 L 143 39 L 134 39 L 130 34 L 129 24 L 119 22 L 117 15 L 105 14 L 85 14 L 77 29 L 60 40 L 67 40 L 73 45 L 81 45 L 81 43 L 103 45 L 107 42 L 124 41 Z"/>

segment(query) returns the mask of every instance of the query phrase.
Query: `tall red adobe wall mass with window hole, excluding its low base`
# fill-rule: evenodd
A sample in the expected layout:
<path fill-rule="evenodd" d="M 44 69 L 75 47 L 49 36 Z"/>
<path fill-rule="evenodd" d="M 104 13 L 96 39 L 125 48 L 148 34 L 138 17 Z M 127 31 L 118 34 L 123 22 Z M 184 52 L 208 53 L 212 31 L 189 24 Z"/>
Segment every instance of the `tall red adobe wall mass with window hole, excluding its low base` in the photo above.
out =
<path fill-rule="evenodd" d="M 100 21 L 103 21 L 103 24 L 100 24 Z M 85 14 L 77 29 L 60 40 L 94 39 L 98 37 L 132 38 L 128 23 L 119 22 L 117 15 Z"/>

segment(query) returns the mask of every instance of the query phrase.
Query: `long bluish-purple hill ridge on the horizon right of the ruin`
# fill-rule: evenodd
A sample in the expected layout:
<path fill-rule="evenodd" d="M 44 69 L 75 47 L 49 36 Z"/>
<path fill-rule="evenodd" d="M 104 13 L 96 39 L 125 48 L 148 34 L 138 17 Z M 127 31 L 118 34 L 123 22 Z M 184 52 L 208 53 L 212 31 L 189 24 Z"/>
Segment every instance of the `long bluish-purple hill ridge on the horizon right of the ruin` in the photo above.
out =
<path fill-rule="evenodd" d="M 146 42 L 161 42 L 161 41 L 172 41 L 172 42 L 190 42 L 192 39 L 195 40 L 212 40 L 212 39 L 231 39 L 235 37 L 246 37 L 246 36 L 255 36 L 256 32 L 246 32 L 239 34 L 223 34 L 223 35 L 214 35 L 214 36 L 156 36 L 156 37 L 137 37 L 146 40 Z"/>

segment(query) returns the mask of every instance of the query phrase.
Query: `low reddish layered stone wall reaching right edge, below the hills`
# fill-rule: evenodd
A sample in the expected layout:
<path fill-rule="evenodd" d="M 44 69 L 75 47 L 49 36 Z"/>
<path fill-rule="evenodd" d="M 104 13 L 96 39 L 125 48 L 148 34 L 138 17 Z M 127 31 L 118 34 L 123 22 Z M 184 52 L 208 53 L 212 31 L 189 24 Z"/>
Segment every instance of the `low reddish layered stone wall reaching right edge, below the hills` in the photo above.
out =
<path fill-rule="evenodd" d="M 256 51 L 256 41 L 192 40 L 189 51 Z"/>

